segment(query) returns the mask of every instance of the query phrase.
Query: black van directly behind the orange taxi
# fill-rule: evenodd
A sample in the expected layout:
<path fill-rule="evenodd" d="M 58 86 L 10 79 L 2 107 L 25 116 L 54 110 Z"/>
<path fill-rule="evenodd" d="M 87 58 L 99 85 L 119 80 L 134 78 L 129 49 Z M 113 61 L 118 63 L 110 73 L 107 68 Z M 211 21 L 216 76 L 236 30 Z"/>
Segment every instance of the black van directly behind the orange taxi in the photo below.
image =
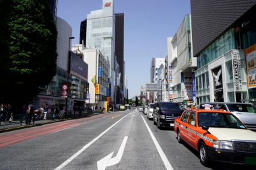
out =
<path fill-rule="evenodd" d="M 174 126 L 174 120 L 179 118 L 184 109 L 181 103 L 162 101 L 154 105 L 154 124 L 158 128 L 168 128 Z"/>

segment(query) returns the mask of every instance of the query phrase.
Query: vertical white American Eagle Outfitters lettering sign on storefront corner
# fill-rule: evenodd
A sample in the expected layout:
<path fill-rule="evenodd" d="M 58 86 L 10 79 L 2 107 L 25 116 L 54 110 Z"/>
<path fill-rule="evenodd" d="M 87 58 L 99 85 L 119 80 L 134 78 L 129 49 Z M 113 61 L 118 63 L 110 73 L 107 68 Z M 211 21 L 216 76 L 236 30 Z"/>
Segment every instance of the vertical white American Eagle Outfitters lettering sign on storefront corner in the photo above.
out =
<path fill-rule="evenodd" d="M 233 75 L 236 91 L 242 91 L 241 58 L 238 50 L 233 51 Z"/>

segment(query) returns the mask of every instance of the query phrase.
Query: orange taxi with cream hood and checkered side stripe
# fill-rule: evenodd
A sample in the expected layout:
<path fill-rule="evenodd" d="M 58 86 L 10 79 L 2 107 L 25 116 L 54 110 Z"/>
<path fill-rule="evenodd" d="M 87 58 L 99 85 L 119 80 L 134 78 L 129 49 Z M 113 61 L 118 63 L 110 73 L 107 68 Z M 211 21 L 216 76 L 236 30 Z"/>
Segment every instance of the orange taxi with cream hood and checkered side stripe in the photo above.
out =
<path fill-rule="evenodd" d="M 185 110 L 174 122 L 178 141 L 199 152 L 203 165 L 210 161 L 256 165 L 256 133 L 224 110 Z"/>

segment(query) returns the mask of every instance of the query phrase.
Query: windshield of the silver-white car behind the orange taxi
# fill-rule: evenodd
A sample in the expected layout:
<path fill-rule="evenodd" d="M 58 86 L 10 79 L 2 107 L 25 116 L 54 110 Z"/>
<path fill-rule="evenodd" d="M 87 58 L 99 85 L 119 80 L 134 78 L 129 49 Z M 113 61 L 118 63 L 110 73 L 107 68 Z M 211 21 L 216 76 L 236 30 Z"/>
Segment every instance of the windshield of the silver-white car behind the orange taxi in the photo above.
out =
<path fill-rule="evenodd" d="M 256 113 L 256 108 L 251 104 L 236 104 L 236 103 L 228 103 L 228 110 L 230 112 L 251 112 Z"/>

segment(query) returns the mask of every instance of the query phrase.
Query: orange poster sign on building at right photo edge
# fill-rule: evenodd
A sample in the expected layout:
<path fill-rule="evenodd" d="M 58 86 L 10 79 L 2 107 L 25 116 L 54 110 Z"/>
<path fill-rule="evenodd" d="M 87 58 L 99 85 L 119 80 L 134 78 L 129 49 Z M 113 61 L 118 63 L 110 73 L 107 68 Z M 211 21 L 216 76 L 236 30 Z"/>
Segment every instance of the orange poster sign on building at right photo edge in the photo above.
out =
<path fill-rule="evenodd" d="M 256 44 L 245 49 L 248 89 L 256 87 Z"/>

